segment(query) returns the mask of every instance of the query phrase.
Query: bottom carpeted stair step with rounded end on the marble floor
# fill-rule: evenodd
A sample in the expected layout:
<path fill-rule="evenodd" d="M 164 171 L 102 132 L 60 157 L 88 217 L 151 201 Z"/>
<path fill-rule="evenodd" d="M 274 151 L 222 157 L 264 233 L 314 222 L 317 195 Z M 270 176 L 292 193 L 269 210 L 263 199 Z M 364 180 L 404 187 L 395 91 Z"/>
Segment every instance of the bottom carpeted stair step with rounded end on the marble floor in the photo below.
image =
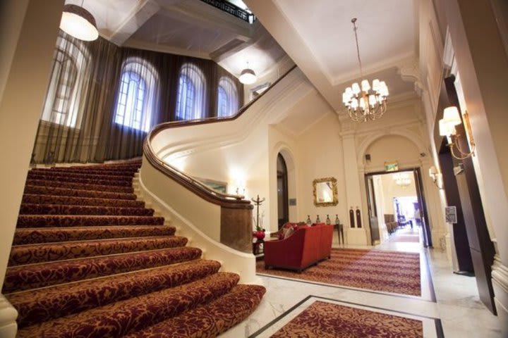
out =
<path fill-rule="evenodd" d="M 217 337 L 253 313 L 265 292 L 265 287 L 260 285 L 238 284 L 230 292 L 210 303 L 197 306 L 146 329 L 131 332 L 123 338 Z"/>

